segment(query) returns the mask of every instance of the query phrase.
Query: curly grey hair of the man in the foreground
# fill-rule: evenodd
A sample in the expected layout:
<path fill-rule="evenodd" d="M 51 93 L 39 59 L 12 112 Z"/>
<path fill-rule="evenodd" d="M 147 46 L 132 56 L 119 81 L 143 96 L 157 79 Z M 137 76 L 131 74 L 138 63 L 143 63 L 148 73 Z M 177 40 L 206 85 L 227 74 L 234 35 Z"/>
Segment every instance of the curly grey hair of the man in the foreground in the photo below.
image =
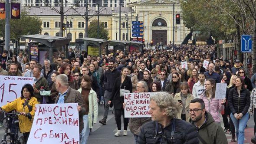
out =
<path fill-rule="evenodd" d="M 155 101 L 161 110 L 165 109 L 169 118 L 177 117 L 180 106 L 171 94 L 167 92 L 156 92 L 154 95 L 151 95 L 150 101 Z"/>

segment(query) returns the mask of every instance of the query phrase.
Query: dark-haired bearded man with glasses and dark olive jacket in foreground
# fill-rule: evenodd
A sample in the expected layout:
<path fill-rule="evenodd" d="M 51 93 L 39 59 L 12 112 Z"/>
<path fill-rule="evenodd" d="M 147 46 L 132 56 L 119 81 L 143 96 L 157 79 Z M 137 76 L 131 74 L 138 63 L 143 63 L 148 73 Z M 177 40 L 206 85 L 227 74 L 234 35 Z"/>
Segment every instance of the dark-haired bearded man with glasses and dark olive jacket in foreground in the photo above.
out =
<path fill-rule="evenodd" d="M 197 130 L 200 144 L 228 144 L 223 129 L 205 110 L 202 99 L 195 98 L 190 101 L 188 112 L 191 123 Z"/>

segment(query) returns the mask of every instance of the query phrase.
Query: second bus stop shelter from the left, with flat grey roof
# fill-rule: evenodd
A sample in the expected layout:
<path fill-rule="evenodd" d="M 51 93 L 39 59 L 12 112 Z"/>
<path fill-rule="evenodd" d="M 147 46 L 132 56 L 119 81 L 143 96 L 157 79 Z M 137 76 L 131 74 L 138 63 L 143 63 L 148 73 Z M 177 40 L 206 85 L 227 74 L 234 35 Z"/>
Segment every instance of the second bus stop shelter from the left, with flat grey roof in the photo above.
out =
<path fill-rule="evenodd" d="M 85 38 L 81 38 L 81 39 L 75 39 L 75 43 L 79 43 L 79 44 L 82 44 L 82 43 L 87 43 L 87 45 L 89 43 L 93 43 L 95 44 L 96 46 L 99 47 L 99 51 L 98 51 L 98 55 L 101 56 L 101 48 L 102 47 L 105 47 L 107 46 L 107 49 L 106 51 L 108 51 L 108 43 L 109 43 L 109 40 L 105 40 L 105 39 L 95 39 L 95 38 L 89 38 L 89 37 L 85 37 Z M 88 49 L 86 49 L 88 50 Z"/>

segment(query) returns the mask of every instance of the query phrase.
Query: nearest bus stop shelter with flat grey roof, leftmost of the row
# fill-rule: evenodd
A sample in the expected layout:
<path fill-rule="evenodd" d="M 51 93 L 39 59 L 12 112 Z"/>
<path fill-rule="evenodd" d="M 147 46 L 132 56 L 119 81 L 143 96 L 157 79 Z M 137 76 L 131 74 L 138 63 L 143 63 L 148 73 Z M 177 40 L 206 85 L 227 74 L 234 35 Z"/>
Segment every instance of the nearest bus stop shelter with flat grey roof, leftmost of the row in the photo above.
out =
<path fill-rule="evenodd" d="M 64 38 L 59 36 L 47 36 L 47 35 L 26 35 L 26 36 L 19 36 L 23 39 L 30 39 L 32 41 L 39 42 L 41 44 L 44 44 L 49 47 L 49 60 L 53 62 L 53 48 L 56 46 L 66 46 L 66 56 L 68 54 L 68 44 L 71 40 L 71 38 Z"/>

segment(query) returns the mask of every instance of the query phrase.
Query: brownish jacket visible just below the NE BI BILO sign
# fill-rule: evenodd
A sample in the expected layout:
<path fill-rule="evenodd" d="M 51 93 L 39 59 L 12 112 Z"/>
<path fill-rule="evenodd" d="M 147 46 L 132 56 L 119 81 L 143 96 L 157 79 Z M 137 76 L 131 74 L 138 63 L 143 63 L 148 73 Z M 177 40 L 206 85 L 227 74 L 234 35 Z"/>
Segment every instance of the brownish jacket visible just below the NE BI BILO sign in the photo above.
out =
<path fill-rule="evenodd" d="M 142 124 L 151 121 L 151 118 L 130 118 L 129 128 L 132 134 L 139 135 Z"/>

